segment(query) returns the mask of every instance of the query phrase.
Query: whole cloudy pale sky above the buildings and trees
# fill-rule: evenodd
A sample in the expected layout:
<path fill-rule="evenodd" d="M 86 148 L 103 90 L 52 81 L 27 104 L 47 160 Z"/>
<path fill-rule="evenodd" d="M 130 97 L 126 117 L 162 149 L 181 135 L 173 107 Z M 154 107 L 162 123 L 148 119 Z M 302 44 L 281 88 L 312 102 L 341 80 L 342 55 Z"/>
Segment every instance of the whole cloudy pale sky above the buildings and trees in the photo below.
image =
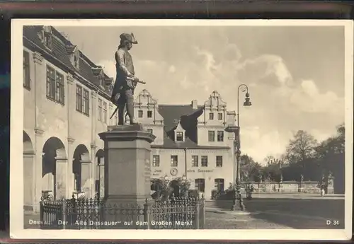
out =
<path fill-rule="evenodd" d="M 236 110 L 237 87 L 251 107 L 239 116 L 241 152 L 263 163 L 280 156 L 302 129 L 322 141 L 344 122 L 344 28 L 341 26 L 55 27 L 115 78 L 120 34 L 134 33 L 135 73 L 160 104 L 204 104 L 218 91 Z"/>

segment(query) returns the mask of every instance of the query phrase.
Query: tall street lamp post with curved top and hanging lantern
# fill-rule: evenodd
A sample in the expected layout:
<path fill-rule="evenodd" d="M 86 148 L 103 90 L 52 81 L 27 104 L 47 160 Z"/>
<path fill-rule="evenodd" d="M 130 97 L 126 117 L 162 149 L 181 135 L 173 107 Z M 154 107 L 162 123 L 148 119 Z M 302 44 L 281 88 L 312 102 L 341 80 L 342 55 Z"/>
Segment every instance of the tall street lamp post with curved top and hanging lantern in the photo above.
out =
<path fill-rule="evenodd" d="M 234 140 L 234 150 L 235 150 L 235 163 L 236 163 L 236 179 L 234 179 L 234 182 L 236 182 L 236 187 L 234 184 L 234 199 L 233 199 L 233 204 L 232 204 L 232 211 L 244 211 L 244 202 L 241 197 L 241 185 L 240 185 L 240 158 L 241 158 L 241 144 L 240 144 L 240 120 L 239 120 L 239 95 L 240 95 L 240 88 L 245 88 L 245 90 L 241 92 L 246 91 L 246 98 L 244 101 L 244 106 L 251 106 L 252 103 L 249 98 L 249 87 L 246 86 L 245 84 L 239 85 L 237 88 L 237 126 L 229 126 L 227 129 L 225 129 L 227 132 L 233 132 L 235 135 L 235 140 Z"/>

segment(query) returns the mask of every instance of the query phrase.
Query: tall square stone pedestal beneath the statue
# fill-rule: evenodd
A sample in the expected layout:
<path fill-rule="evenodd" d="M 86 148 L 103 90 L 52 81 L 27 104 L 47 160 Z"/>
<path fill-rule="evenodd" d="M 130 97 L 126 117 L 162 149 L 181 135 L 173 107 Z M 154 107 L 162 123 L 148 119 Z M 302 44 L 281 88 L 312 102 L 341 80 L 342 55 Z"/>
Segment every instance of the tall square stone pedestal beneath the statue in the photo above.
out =
<path fill-rule="evenodd" d="M 151 198 L 150 144 L 155 136 L 144 131 L 141 124 L 108 127 L 108 132 L 99 136 L 104 141 L 105 151 L 104 201 L 109 206 L 115 205 L 115 212 L 120 212 L 105 211 L 105 220 L 132 223 L 115 228 L 141 228 L 135 226 L 135 222 L 144 221 L 144 214 L 139 210 L 144 209 L 144 202 Z M 130 209 L 139 214 L 128 214 Z"/>

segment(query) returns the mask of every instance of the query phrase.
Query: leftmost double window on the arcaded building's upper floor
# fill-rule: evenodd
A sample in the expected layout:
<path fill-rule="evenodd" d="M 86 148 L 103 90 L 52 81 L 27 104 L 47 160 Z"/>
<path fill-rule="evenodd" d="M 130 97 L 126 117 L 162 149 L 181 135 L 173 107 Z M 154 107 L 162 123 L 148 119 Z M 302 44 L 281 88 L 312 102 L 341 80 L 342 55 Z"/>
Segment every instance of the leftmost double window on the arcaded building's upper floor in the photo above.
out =
<path fill-rule="evenodd" d="M 47 98 L 64 105 L 64 76 L 47 66 Z"/>

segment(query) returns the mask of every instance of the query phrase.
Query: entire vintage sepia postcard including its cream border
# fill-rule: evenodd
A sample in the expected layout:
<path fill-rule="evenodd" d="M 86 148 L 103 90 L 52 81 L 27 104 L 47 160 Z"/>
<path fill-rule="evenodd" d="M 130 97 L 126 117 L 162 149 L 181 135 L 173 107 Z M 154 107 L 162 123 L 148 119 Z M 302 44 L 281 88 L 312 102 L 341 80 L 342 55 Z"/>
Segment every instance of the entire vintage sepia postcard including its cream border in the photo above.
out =
<path fill-rule="evenodd" d="M 350 239 L 353 21 L 11 31 L 12 238 Z"/>

